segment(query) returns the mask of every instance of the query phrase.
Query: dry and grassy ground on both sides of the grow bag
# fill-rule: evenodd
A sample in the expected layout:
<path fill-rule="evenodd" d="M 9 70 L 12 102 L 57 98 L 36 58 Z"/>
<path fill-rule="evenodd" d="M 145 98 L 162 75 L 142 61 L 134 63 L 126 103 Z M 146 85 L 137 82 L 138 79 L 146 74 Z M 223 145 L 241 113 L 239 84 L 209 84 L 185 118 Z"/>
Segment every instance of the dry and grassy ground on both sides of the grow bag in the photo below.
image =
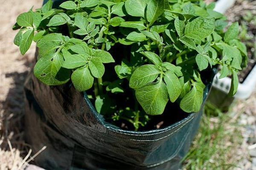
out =
<path fill-rule="evenodd" d="M 28 11 L 32 5 L 40 7 L 42 0 L 0 0 L 0 3 L 0 170 L 18 170 L 32 160 L 29 145 L 23 140 L 22 110 L 23 83 L 34 57 L 35 44 L 21 56 L 13 44 L 17 31 L 12 31 L 12 25 L 18 14 Z M 201 127 L 192 150 L 202 150 L 199 142 L 208 142 L 209 146 L 185 162 L 200 158 L 204 160 L 201 163 L 204 169 L 216 161 L 220 170 L 256 169 L 256 93 L 245 101 L 236 101 L 229 113 L 204 116 L 202 125 L 204 128 Z M 206 134 L 205 130 L 210 133 Z M 214 148 L 214 152 L 209 153 L 209 148 Z M 202 156 L 205 157 L 201 159 Z"/>

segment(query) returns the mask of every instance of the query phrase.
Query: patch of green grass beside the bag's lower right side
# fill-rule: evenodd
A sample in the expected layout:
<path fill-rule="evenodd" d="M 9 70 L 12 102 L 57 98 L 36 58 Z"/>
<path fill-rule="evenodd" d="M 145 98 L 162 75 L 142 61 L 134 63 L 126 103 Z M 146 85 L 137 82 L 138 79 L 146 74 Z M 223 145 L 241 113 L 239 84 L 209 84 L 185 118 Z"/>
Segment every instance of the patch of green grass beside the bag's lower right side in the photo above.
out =
<path fill-rule="evenodd" d="M 231 170 L 241 142 L 236 120 L 207 102 L 198 135 L 183 159 L 183 170 Z"/>

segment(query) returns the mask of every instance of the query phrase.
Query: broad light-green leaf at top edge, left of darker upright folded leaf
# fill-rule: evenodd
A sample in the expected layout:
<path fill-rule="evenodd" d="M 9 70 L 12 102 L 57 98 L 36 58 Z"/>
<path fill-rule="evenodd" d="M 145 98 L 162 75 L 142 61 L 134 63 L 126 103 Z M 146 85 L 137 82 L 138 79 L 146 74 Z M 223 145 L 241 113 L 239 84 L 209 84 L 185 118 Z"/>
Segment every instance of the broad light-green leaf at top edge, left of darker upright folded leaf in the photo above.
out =
<path fill-rule="evenodd" d="M 144 17 L 146 8 L 145 0 L 126 0 L 125 10 L 133 17 Z"/>

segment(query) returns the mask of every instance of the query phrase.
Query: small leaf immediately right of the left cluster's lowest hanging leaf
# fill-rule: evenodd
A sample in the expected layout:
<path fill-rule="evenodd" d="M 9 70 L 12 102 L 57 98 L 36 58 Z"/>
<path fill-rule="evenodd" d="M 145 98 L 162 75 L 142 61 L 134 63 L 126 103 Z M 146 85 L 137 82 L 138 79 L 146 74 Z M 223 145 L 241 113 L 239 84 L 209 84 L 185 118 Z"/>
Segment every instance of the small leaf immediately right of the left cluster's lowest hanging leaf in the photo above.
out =
<path fill-rule="evenodd" d="M 93 76 L 96 78 L 101 78 L 105 72 L 105 67 L 98 57 L 94 57 L 91 59 L 91 61 L 89 62 L 89 68 Z"/>

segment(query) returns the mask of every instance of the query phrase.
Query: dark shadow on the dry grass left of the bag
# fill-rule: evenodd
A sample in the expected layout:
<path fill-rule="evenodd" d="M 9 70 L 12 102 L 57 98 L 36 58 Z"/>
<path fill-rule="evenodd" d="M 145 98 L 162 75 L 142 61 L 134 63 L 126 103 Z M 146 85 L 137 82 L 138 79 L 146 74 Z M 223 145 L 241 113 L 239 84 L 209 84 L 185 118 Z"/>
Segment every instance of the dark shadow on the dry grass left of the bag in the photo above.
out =
<path fill-rule="evenodd" d="M 32 62 L 26 59 L 24 65 L 26 67 L 31 67 Z M 29 146 L 24 142 L 23 137 L 23 88 L 28 72 L 29 71 L 15 71 L 5 74 L 5 77 L 12 78 L 13 82 L 11 88 L 9 88 L 6 100 L 0 101 L 0 111 L 2 112 L 2 124 L 0 127 L 0 149 L 5 151 L 11 150 L 11 148 L 16 148 L 20 151 L 21 156 L 26 155 L 29 150 Z"/>

